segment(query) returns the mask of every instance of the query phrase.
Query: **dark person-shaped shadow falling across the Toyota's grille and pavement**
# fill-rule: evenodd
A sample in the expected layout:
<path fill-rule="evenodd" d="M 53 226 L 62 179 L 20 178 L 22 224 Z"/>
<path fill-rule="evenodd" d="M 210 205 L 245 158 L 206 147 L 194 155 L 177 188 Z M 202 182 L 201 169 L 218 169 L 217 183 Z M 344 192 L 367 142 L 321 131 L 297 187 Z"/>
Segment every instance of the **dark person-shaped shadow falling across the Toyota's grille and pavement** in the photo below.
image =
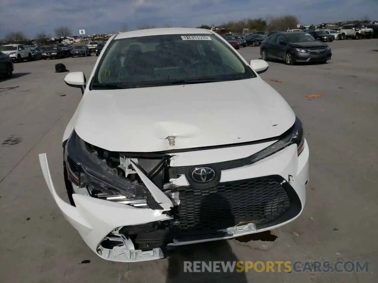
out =
<path fill-rule="evenodd" d="M 194 214 L 196 212 L 194 211 Z M 203 221 L 209 221 L 209 217 L 214 221 L 221 219 L 224 227 L 230 227 L 234 225 L 234 216 L 231 212 L 231 207 L 228 201 L 220 194 L 209 194 L 201 201 L 199 210 L 199 223 Z M 209 221 L 212 223 L 212 221 Z M 231 224 L 232 223 L 232 224 Z M 198 224 L 200 225 L 200 224 Z M 195 227 L 194 229 L 195 230 Z M 168 271 L 166 283 L 173 282 L 232 282 L 232 283 L 247 283 L 247 279 L 244 272 L 236 272 L 235 266 L 234 272 L 229 270 L 223 271 L 222 264 L 218 263 L 218 272 L 208 271 L 204 268 L 202 272 L 202 265 L 200 265 L 201 272 L 188 272 L 185 268 L 188 263 L 191 263 L 191 269 L 194 269 L 193 261 L 205 262 L 206 265 L 213 266 L 214 261 L 224 261 L 226 264 L 229 261 L 231 264 L 237 262 L 238 258 L 232 252 L 231 246 L 226 240 L 211 241 L 207 243 L 199 243 L 178 247 L 169 253 L 168 258 Z M 184 271 L 186 269 L 186 272 Z"/>

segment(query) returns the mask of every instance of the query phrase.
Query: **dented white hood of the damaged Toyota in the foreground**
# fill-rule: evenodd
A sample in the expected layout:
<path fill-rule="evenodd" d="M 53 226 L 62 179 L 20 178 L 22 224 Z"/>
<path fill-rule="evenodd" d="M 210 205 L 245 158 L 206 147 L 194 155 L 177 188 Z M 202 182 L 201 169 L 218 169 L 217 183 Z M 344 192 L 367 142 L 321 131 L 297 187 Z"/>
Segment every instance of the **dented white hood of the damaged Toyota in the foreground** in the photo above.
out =
<path fill-rule="evenodd" d="M 295 122 L 287 102 L 260 77 L 87 91 L 74 117 L 74 129 L 83 140 L 128 152 L 262 140 L 283 134 Z M 174 146 L 169 136 L 176 137 Z"/>

